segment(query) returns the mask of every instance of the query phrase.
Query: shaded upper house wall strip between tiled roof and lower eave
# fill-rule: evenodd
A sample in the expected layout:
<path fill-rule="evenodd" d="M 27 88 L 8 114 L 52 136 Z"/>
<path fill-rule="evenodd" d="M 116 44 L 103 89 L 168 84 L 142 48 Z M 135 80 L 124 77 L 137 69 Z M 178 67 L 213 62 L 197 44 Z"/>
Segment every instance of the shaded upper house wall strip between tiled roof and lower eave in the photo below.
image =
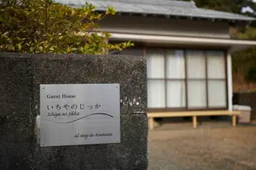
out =
<path fill-rule="evenodd" d="M 101 30 L 111 33 L 230 38 L 228 23 L 173 20 L 153 16 L 107 16 Z"/>

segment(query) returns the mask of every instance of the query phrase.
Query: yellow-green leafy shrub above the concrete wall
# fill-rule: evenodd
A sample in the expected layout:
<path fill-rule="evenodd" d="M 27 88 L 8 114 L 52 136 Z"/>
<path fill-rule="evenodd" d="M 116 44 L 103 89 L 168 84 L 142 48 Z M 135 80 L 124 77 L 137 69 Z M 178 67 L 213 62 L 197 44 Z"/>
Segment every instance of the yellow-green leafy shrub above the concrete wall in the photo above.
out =
<path fill-rule="evenodd" d="M 0 3 L 0 51 L 15 53 L 102 54 L 134 44 L 108 44 L 111 34 L 95 32 L 104 13 L 92 4 L 67 7 L 52 0 L 3 0 Z"/>

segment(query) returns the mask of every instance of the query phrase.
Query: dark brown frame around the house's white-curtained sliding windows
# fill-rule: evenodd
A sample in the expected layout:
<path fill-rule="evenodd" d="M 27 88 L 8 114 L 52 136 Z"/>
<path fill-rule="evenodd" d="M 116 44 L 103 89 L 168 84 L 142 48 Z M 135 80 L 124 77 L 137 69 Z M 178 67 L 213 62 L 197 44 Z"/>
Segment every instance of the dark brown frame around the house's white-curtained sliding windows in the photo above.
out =
<path fill-rule="evenodd" d="M 120 43 L 119 41 L 111 41 L 112 43 Z M 187 46 L 187 45 L 178 45 L 178 46 L 173 46 L 173 45 L 167 45 L 167 44 L 145 44 L 142 42 L 135 42 L 135 48 L 141 48 L 143 57 L 147 59 L 147 49 L 148 48 L 158 48 L 158 49 L 163 49 L 164 50 L 164 79 L 150 79 L 147 78 L 147 80 L 164 80 L 164 86 L 165 86 L 165 108 L 148 108 L 148 112 L 175 112 L 175 111 L 206 111 L 206 110 L 227 110 L 230 106 L 229 103 L 229 88 L 228 88 L 228 67 L 227 67 L 227 58 L 228 58 L 228 49 L 227 48 L 216 48 L 212 46 Z M 184 53 L 184 60 L 185 60 L 185 103 L 186 107 L 184 108 L 167 108 L 167 102 L 168 102 L 168 96 L 167 96 L 167 82 L 168 79 L 166 79 L 167 75 L 167 62 L 166 61 L 166 51 L 167 50 L 183 50 Z M 188 103 L 188 98 L 187 98 L 187 51 L 188 50 L 200 50 L 204 53 L 204 57 L 206 58 L 206 108 L 188 108 L 187 103 Z M 209 79 L 208 79 L 208 67 L 207 67 L 207 58 L 206 57 L 206 52 L 207 51 L 222 51 L 224 53 L 224 64 L 225 64 L 225 107 L 220 107 L 220 108 L 209 108 Z M 169 79 L 172 80 L 172 79 Z M 175 80 L 175 79 L 173 79 Z M 176 80 L 183 80 L 183 79 L 176 79 Z M 211 79 L 211 80 L 216 80 L 216 79 Z"/>

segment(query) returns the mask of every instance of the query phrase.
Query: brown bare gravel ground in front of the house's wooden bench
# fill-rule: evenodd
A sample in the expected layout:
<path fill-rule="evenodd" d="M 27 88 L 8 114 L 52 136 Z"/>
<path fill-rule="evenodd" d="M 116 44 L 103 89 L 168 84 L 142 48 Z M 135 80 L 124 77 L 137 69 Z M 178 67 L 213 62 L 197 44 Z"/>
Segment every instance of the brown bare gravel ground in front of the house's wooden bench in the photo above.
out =
<path fill-rule="evenodd" d="M 256 126 L 149 131 L 149 170 L 157 169 L 256 170 Z"/>

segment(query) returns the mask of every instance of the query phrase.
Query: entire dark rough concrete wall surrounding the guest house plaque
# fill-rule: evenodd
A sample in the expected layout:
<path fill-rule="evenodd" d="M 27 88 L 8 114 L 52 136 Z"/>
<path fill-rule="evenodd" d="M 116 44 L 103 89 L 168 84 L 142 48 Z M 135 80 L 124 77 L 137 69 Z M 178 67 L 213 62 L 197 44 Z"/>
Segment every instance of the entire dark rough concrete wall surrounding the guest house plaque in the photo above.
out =
<path fill-rule="evenodd" d="M 40 84 L 121 85 L 121 143 L 40 148 Z M 0 53 L 0 169 L 147 169 L 143 57 Z M 132 99 L 140 105 L 129 105 Z"/>

